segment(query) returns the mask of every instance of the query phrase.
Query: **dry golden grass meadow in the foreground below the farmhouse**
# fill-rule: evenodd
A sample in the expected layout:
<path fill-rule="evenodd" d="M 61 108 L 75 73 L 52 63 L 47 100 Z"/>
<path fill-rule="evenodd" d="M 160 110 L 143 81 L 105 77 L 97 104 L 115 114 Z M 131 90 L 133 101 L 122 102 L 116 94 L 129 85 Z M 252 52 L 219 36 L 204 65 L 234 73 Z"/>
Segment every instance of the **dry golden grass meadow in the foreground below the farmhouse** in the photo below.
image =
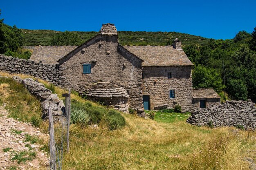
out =
<path fill-rule="evenodd" d="M 63 92 L 56 88 L 58 95 Z M 74 94 L 72 98 L 85 102 Z M 185 123 L 188 114 L 158 112 L 155 120 L 124 116 L 127 125 L 120 130 L 110 131 L 104 124 L 99 130 L 71 125 L 70 153 L 64 154 L 63 170 L 247 170 L 245 157 L 256 161 L 256 132 L 191 126 Z M 40 126 L 45 132 L 47 127 Z"/>

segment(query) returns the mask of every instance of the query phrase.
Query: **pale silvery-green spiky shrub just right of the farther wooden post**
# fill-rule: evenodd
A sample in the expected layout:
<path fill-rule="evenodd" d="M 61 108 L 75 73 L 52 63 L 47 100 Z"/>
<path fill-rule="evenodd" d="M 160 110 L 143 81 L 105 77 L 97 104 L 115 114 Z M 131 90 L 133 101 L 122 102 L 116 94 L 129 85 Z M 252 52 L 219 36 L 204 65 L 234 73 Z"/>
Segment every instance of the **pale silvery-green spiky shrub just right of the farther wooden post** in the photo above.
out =
<path fill-rule="evenodd" d="M 87 114 L 86 110 L 83 110 L 81 108 L 72 108 L 70 113 L 71 124 L 87 125 L 89 121 L 90 116 Z"/>

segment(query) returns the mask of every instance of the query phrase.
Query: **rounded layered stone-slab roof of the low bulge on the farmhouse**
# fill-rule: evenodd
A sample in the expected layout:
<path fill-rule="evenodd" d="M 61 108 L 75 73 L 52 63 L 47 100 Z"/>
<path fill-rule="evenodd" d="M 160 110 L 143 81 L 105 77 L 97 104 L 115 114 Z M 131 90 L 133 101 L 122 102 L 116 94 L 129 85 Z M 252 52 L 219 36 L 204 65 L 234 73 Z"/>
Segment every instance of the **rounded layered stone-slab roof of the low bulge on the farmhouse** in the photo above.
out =
<path fill-rule="evenodd" d="M 99 82 L 92 85 L 86 90 L 86 95 L 90 97 L 125 97 L 128 98 L 129 95 L 127 91 L 119 86 L 110 84 L 108 82 Z"/>

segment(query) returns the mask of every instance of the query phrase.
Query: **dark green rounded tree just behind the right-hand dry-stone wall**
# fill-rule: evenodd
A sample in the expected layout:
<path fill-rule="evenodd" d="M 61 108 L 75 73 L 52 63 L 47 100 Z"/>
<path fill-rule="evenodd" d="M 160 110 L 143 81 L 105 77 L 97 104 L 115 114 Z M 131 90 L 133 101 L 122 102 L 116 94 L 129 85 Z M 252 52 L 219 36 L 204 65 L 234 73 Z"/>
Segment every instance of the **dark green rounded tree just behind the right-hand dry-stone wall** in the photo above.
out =
<path fill-rule="evenodd" d="M 240 79 L 231 79 L 227 84 L 227 91 L 229 96 L 235 100 L 246 100 L 247 99 L 247 87 Z"/>

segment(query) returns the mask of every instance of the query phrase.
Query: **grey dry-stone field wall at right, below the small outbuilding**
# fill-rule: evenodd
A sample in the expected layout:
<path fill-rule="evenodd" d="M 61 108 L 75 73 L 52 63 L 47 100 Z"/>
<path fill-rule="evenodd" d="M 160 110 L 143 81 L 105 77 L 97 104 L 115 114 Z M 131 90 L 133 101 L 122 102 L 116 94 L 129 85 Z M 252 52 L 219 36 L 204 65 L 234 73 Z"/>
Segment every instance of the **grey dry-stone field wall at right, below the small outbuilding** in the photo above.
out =
<path fill-rule="evenodd" d="M 200 108 L 191 113 L 187 122 L 197 126 L 243 126 L 245 129 L 256 129 L 256 107 L 250 99 L 246 101 L 227 101 L 224 104 Z"/>

